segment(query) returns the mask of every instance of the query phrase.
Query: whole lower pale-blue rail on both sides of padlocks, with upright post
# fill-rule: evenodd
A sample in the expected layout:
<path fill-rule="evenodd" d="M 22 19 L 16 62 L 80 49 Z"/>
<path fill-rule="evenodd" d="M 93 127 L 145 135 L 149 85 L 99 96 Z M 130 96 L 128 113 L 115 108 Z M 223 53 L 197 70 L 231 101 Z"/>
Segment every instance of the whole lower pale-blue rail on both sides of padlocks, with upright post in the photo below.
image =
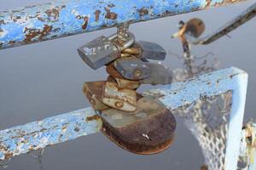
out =
<path fill-rule="evenodd" d="M 245 71 L 237 68 L 215 71 L 189 79 L 186 82 L 178 82 L 164 88 L 150 90 L 144 95 L 154 95 L 167 107 L 176 109 L 181 106 L 189 106 L 199 99 L 223 94 L 230 90 L 235 96 L 230 113 L 226 166 L 234 167 L 238 160 L 240 147 L 240 139 L 238 138 L 241 138 L 239 131 L 241 131 L 247 90 L 247 73 Z M 237 121 L 240 119 L 241 121 Z M 236 121 L 233 122 L 233 120 Z M 12 127 L 0 131 L 0 160 L 18 156 L 30 150 L 38 150 L 47 145 L 96 133 L 101 127 L 101 120 L 91 108 Z M 227 170 L 235 170 L 235 168 L 227 168 Z"/>

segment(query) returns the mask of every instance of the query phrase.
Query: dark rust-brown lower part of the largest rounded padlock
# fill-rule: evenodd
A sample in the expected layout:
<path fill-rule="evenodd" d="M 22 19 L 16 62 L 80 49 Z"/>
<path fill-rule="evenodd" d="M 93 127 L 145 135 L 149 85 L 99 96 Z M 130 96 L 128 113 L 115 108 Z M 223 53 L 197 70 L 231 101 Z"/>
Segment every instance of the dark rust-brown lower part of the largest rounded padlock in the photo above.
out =
<path fill-rule="evenodd" d="M 125 150 L 148 155 L 159 153 L 172 145 L 175 127 L 174 116 L 165 110 L 143 122 L 134 122 L 125 127 L 113 127 L 103 120 L 102 133 Z"/>

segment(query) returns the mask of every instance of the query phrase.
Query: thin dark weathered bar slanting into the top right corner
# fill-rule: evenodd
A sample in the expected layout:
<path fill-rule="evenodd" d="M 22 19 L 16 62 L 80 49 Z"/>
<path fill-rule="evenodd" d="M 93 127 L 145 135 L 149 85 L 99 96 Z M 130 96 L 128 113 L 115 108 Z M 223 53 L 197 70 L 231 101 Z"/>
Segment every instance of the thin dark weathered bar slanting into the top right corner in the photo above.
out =
<path fill-rule="evenodd" d="M 230 33 L 230 31 L 236 30 L 236 28 L 247 23 L 247 21 L 252 20 L 253 17 L 255 16 L 256 16 L 256 3 L 253 3 L 253 5 L 247 8 L 247 10 L 243 11 L 235 19 L 230 20 L 230 22 L 220 27 L 217 31 L 212 32 L 212 34 L 209 34 L 206 37 L 201 37 L 198 39 L 190 37 L 189 35 L 186 35 L 186 37 L 189 43 L 207 45 L 209 43 L 212 43 L 218 40 L 220 37 L 224 37 L 225 35 Z"/>

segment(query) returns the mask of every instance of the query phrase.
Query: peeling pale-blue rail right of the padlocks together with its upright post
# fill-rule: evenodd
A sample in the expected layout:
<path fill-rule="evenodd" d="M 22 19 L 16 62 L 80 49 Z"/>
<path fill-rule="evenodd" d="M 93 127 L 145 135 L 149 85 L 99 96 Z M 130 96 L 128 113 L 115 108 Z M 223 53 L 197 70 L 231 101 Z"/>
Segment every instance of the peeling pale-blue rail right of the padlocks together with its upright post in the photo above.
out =
<path fill-rule="evenodd" d="M 236 68 L 215 71 L 189 79 L 186 82 L 172 84 L 166 88 L 151 90 L 147 94 L 159 97 L 172 109 L 179 106 L 189 107 L 199 99 L 232 91 L 232 105 L 230 122 L 227 133 L 226 152 L 224 160 L 225 170 L 236 170 L 240 143 L 241 128 L 247 93 L 247 73 Z"/>

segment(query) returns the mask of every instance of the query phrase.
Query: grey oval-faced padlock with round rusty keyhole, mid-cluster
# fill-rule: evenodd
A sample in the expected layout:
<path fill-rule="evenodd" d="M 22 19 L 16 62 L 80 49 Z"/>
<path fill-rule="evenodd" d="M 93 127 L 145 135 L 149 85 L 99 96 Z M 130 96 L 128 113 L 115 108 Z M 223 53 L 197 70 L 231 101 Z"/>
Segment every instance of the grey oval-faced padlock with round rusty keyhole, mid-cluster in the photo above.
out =
<path fill-rule="evenodd" d="M 122 77 L 129 80 L 141 80 L 150 75 L 150 69 L 146 63 L 136 57 L 116 59 L 113 65 Z"/>

